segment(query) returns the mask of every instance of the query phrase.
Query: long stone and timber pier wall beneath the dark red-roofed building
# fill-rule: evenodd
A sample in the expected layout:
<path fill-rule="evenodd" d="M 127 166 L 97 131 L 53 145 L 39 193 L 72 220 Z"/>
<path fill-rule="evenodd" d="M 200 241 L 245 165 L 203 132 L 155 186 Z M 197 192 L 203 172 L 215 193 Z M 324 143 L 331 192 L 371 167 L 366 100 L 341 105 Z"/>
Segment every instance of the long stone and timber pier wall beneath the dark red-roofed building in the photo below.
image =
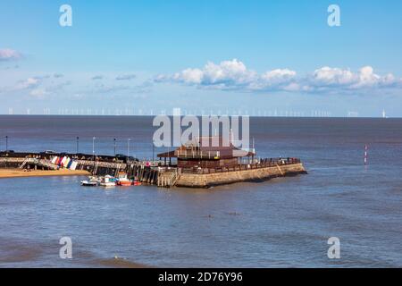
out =
<path fill-rule="evenodd" d="M 306 173 L 297 158 L 255 160 L 252 164 L 238 164 L 226 168 L 178 168 L 162 161 L 118 160 L 113 156 L 90 156 L 44 153 L 0 153 L 0 168 L 58 170 L 63 165 L 54 164 L 54 158 L 69 158 L 74 170 L 82 170 L 98 176 L 126 172 L 128 178 L 159 187 L 209 188 L 240 181 L 266 181 L 276 177 Z M 59 160 L 60 161 L 60 160 Z"/>

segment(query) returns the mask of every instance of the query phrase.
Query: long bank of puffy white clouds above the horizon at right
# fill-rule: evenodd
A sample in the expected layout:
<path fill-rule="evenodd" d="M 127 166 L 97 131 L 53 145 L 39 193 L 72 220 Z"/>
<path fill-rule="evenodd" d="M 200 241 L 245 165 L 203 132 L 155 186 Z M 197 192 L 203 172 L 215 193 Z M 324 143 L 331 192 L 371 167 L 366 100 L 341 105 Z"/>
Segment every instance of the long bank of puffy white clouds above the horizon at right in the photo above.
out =
<path fill-rule="evenodd" d="M 305 76 L 290 69 L 258 73 L 237 59 L 206 63 L 204 68 L 188 68 L 172 75 L 159 75 L 157 82 L 172 81 L 198 88 L 238 89 L 239 91 L 345 92 L 373 88 L 402 88 L 402 79 L 385 76 L 364 66 L 359 71 L 324 66 Z"/>

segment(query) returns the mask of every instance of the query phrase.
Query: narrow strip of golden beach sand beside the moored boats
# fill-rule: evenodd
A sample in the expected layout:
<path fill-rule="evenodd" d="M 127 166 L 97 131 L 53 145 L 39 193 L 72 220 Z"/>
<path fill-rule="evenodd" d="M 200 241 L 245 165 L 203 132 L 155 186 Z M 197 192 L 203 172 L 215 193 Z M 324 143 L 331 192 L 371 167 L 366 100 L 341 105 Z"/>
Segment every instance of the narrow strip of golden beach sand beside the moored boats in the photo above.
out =
<path fill-rule="evenodd" d="M 42 177 L 42 176 L 85 176 L 88 171 L 81 170 L 32 170 L 30 172 L 21 169 L 0 169 L 0 179 L 19 177 Z"/>

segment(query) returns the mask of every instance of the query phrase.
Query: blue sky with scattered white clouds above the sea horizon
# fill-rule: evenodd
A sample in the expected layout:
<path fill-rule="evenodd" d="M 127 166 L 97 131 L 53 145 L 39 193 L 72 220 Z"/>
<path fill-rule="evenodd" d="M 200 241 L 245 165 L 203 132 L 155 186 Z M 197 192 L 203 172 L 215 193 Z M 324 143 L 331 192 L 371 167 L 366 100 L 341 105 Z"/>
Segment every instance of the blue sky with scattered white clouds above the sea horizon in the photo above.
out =
<path fill-rule="evenodd" d="M 402 117 L 401 13 L 399 0 L 0 0 L 0 114 Z"/>

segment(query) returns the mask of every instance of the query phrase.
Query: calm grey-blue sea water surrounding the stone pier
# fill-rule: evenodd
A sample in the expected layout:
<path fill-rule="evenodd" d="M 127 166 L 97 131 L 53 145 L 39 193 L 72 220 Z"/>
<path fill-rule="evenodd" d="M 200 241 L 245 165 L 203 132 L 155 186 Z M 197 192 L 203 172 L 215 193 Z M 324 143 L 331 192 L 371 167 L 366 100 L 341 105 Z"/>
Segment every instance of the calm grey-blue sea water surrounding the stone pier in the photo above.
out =
<path fill-rule="evenodd" d="M 0 116 L 16 151 L 152 156 L 149 117 Z M 0 180 L 0 266 L 402 266 L 402 120 L 252 118 L 260 156 L 308 175 L 214 189 L 85 189 L 80 177 Z M 4 149 L 4 139 L 0 142 Z M 364 166 L 364 144 L 369 165 Z M 59 239 L 72 240 L 71 260 Z M 338 260 L 327 257 L 330 237 Z"/>

